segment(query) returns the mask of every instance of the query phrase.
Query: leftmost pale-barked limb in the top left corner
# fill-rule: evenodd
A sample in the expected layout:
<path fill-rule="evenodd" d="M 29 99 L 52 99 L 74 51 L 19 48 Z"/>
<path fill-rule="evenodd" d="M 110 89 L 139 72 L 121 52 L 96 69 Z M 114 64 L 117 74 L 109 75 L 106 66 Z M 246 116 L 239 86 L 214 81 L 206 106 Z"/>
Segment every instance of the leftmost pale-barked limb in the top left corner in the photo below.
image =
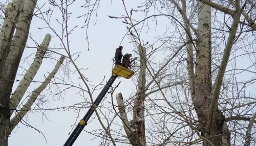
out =
<path fill-rule="evenodd" d="M 5 19 L 0 33 L 0 75 L 7 59 L 17 19 L 25 0 L 14 0 L 5 9 Z"/>

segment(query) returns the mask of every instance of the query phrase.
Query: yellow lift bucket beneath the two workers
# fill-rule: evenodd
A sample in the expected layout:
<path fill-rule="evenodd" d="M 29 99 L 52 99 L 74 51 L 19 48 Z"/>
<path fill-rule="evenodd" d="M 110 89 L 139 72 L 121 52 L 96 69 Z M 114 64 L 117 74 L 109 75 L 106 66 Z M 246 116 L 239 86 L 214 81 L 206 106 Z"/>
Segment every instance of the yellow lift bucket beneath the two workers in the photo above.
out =
<path fill-rule="evenodd" d="M 134 72 L 128 68 L 123 67 L 122 65 L 116 65 L 113 69 L 112 69 L 112 75 L 113 76 L 120 76 L 123 77 L 125 79 L 130 79 L 133 75 Z"/>

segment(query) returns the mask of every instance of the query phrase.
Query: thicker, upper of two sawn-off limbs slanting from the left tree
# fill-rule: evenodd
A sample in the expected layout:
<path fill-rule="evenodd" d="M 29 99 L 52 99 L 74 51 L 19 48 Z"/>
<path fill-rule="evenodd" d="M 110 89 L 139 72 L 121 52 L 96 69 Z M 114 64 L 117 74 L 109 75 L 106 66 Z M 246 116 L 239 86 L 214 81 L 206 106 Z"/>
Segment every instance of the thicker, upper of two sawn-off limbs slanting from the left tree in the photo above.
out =
<path fill-rule="evenodd" d="M 44 40 L 42 41 L 41 45 L 37 48 L 37 52 L 34 58 L 33 63 L 27 70 L 25 76 L 23 77 L 22 81 L 19 82 L 18 87 L 14 91 L 13 95 L 10 99 L 10 109 L 17 108 L 19 102 L 22 100 L 25 92 L 27 91 L 31 81 L 34 79 L 41 63 L 44 55 L 48 49 L 48 45 L 51 41 L 52 36 L 50 34 L 46 34 Z M 10 115 L 12 115 L 14 110 L 10 110 Z"/>

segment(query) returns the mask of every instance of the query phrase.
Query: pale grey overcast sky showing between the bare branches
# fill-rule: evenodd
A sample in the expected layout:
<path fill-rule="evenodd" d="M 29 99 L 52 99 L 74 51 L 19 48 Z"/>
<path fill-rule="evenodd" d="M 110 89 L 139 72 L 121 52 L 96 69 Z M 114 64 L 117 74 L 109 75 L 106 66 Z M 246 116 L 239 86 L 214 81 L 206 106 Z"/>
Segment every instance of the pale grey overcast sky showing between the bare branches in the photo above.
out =
<path fill-rule="evenodd" d="M 125 1 L 126 9 L 129 11 L 132 8 L 136 9 L 139 4 L 143 3 L 144 1 Z M 46 4 L 45 4 L 46 3 Z M 42 5 L 45 6 L 42 8 L 41 11 L 46 11 L 49 8 L 49 3 L 46 1 L 38 1 L 37 6 L 41 7 Z M 87 70 L 82 70 L 81 72 L 83 75 L 87 78 L 89 78 L 90 81 L 92 81 L 91 84 L 93 85 L 98 85 L 103 77 L 105 76 L 104 84 L 108 79 L 111 77 L 111 70 L 112 70 L 112 61 L 111 59 L 114 57 L 115 54 L 115 49 L 119 46 L 120 41 L 122 40 L 123 36 L 126 33 L 126 26 L 124 23 L 121 21 L 123 19 L 111 19 L 108 17 L 108 15 L 111 16 L 120 16 L 126 15 L 122 1 L 100 1 L 100 8 L 98 9 L 98 16 L 97 16 L 97 23 L 95 26 L 95 14 L 91 17 L 91 22 L 90 22 L 90 27 L 89 27 L 89 42 L 90 42 L 90 51 L 88 50 L 88 44 L 86 39 L 86 30 L 85 29 L 80 29 L 82 27 L 84 18 L 76 18 L 79 15 L 82 15 L 84 13 L 87 13 L 86 8 L 80 8 L 80 6 L 83 5 L 82 1 L 75 1 L 72 6 L 69 7 L 69 13 L 72 12 L 71 18 L 69 18 L 69 29 L 75 27 L 78 25 L 78 28 L 74 30 L 74 32 L 69 35 L 70 38 L 70 49 L 72 53 L 77 53 L 80 52 L 80 57 L 76 60 L 76 64 L 78 68 L 89 68 Z M 51 6 L 52 8 L 52 6 Z M 60 11 L 55 8 L 53 9 L 53 16 L 51 18 L 51 27 L 53 27 L 58 34 L 61 33 L 61 26 L 58 25 L 56 22 L 55 18 L 58 18 L 61 20 L 61 13 Z M 150 14 L 153 14 L 154 12 L 150 12 Z M 148 14 L 148 15 L 150 15 Z M 46 15 L 44 15 L 46 16 Z M 133 13 L 133 18 L 136 20 L 141 20 L 145 17 L 145 13 Z M 144 28 L 144 30 L 141 32 L 140 37 L 146 41 L 150 41 L 150 43 L 153 43 L 156 41 L 156 38 L 158 35 L 162 35 L 166 29 L 168 30 L 168 33 L 174 31 L 174 26 L 170 24 L 170 22 L 166 19 L 166 17 L 158 17 L 158 23 L 157 23 L 157 31 L 155 31 L 155 21 L 152 22 L 152 19 L 149 19 L 148 22 L 150 22 L 150 30 L 146 33 L 147 29 Z M 35 41 L 37 43 L 41 43 L 42 39 L 44 39 L 45 34 L 49 33 L 52 36 L 54 36 L 54 33 L 50 29 L 43 29 L 43 30 L 38 30 L 37 28 L 42 28 L 46 27 L 46 23 L 42 21 L 41 19 L 37 17 L 33 17 L 32 23 L 31 23 L 31 28 L 30 28 L 30 33 Z M 65 39 L 64 39 L 65 40 Z M 65 40 L 66 41 L 66 40 Z M 129 40 L 127 37 L 124 38 L 122 42 L 122 46 L 124 46 L 123 49 L 123 54 L 124 53 L 132 53 L 133 57 L 135 55 L 134 52 L 134 45 L 132 43 L 129 43 Z M 65 42 L 66 43 L 66 42 Z M 60 40 L 57 37 L 52 37 L 52 40 L 50 42 L 50 47 L 60 47 Z M 158 47 L 160 43 L 156 43 L 154 47 Z M 27 45 L 29 46 L 35 46 L 35 43 L 29 38 Z M 224 47 L 223 47 L 224 49 Z M 23 54 L 23 58 L 28 57 L 31 55 L 31 53 L 35 53 L 36 49 L 35 48 L 25 48 L 25 52 Z M 63 53 L 66 55 L 65 52 L 63 51 L 58 51 L 59 53 Z M 168 56 L 172 55 L 172 53 L 169 52 L 158 52 L 156 53 L 157 57 L 154 59 L 155 62 L 162 62 L 163 59 Z M 57 57 L 56 59 L 59 59 L 59 55 L 54 55 Z M 136 55 L 137 56 L 137 55 Z M 28 59 L 28 61 L 25 61 L 23 64 L 20 63 L 20 66 L 22 68 L 19 68 L 17 74 L 22 74 L 24 73 L 24 69 L 28 69 L 31 62 L 33 61 L 34 55 L 31 55 Z M 230 56 L 232 58 L 232 55 Z M 237 61 L 238 66 L 244 66 L 244 62 L 249 61 L 249 59 L 246 58 L 241 58 L 240 61 Z M 48 76 L 48 72 L 50 72 L 54 66 L 55 66 L 56 60 L 54 59 L 44 59 L 44 62 L 42 63 L 36 77 L 34 78 L 35 81 L 44 81 L 44 75 Z M 66 64 L 66 63 L 64 63 Z M 71 69 L 74 71 L 74 67 L 72 65 Z M 232 64 L 229 64 L 229 69 Z M 64 66 L 62 66 L 63 68 Z M 228 69 L 227 68 L 227 69 Z M 252 66 L 252 70 L 255 70 L 255 66 Z M 249 75 L 249 74 L 245 74 Z M 55 77 L 64 77 L 63 75 L 63 69 L 59 70 L 57 75 Z M 70 75 L 71 80 L 67 79 L 65 77 L 65 81 L 74 84 L 78 86 L 78 83 L 83 88 L 86 88 L 83 83 L 78 79 L 78 74 L 71 74 Z M 135 78 L 135 77 L 134 77 Z M 244 76 L 243 79 L 238 79 L 238 80 L 246 80 L 251 78 L 251 76 Z M 17 76 L 17 79 L 21 80 L 22 76 Z M 122 92 L 124 98 L 128 98 L 129 95 L 132 93 L 132 90 L 135 90 L 135 85 L 133 84 L 132 80 L 126 80 L 126 79 L 117 79 L 113 86 L 117 85 L 118 82 L 121 81 L 121 84 L 119 87 L 116 89 L 114 93 L 114 104 L 116 104 L 116 98 L 115 94 Z M 60 82 L 61 81 L 57 81 Z M 13 91 L 15 90 L 16 86 L 18 83 L 15 83 L 13 87 Z M 33 83 L 30 85 L 29 89 L 27 91 L 32 92 L 35 88 L 38 87 L 40 83 Z M 49 86 L 48 86 L 49 87 Z M 47 87 L 47 89 L 48 89 Z M 59 86 L 60 87 L 60 86 Z M 66 86 L 67 87 L 67 86 Z M 92 86 L 91 86 L 92 88 Z M 254 90 L 255 88 L 249 88 L 249 90 Z M 50 108 L 56 108 L 56 107 L 65 107 L 65 106 L 72 106 L 76 103 L 81 103 L 84 102 L 84 98 L 80 96 L 79 94 L 76 94 L 79 90 L 76 88 L 70 88 L 66 90 L 65 94 L 62 94 L 62 98 L 58 98 L 58 96 L 54 96 L 52 98 L 51 95 L 49 95 L 49 91 L 44 90 L 43 94 L 47 94 L 46 98 L 48 98 L 48 102 L 46 105 L 43 107 L 46 109 Z M 100 90 L 97 90 L 93 93 L 93 98 L 94 100 L 96 99 L 98 93 Z M 54 93 L 52 93 L 54 94 Z M 25 97 L 28 95 L 28 93 L 24 96 L 25 102 L 27 101 Z M 111 107 L 111 104 L 108 102 L 111 102 L 111 96 L 110 94 L 107 96 L 108 98 L 103 102 L 104 107 Z M 85 95 L 85 98 L 89 98 L 88 95 Z M 88 99 L 90 101 L 90 99 Z M 24 103 L 25 103 L 24 102 Z M 33 106 L 34 107 L 34 106 Z M 41 106 L 42 107 L 42 106 Z M 42 136 L 42 134 L 38 133 L 32 128 L 29 128 L 23 124 L 19 124 L 18 128 L 15 128 L 14 131 L 11 134 L 11 137 L 9 138 L 9 145 L 63 145 L 65 141 L 68 138 L 68 133 L 72 129 L 72 125 L 77 125 L 78 121 L 80 118 L 86 114 L 88 109 L 82 109 L 79 114 L 78 121 L 76 120 L 77 113 L 75 112 L 76 110 L 74 109 L 69 109 L 66 111 L 45 111 L 45 114 L 47 115 L 47 120 L 46 117 L 42 116 L 42 113 L 38 111 L 38 113 L 30 113 L 28 115 L 28 122 L 30 125 L 35 127 L 36 129 L 40 130 L 46 137 L 47 142 L 45 138 Z M 108 116 L 109 110 L 108 109 L 103 109 L 103 112 L 106 112 L 105 115 Z M 113 116 L 113 114 L 112 114 Z M 91 117 L 93 119 L 95 117 L 95 114 Z M 117 119 L 117 118 L 116 118 Z M 91 121 L 91 120 L 90 120 Z M 121 121 L 119 121 L 119 124 L 121 125 Z M 106 126 L 106 121 L 103 120 L 103 123 Z M 113 125 L 113 129 L 119 128 L 119 126 Z M 85 128 L 84 130 L 86 131 L 93 131 L 96 129 L 101 129 L 101 125 L 96 118 L 94 118 Z M 98 145 L 99 144 L 99 138 L 93 139 L 95 136 L 83 131 L 79 137 L 77 138 L 76 142 L 74 145 Z M 93 140 L 92 140 L 93 139 Z M 121 144 L 118 144 L 121 145 Z M 127 145 L 127 144 L 123 144 Z"/>

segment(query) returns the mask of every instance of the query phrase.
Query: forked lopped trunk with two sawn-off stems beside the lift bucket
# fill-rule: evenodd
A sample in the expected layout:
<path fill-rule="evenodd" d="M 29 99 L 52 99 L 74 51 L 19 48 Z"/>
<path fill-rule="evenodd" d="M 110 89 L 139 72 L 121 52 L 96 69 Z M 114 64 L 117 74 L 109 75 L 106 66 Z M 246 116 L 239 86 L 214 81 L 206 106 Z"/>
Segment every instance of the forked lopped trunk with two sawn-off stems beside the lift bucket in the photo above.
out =
<path fill-rule="evenodd" d="M 144 100 L 146 88 L 146 48 L 138 46 L 140 55 L 140 71 L 138 79 L 138 88 L 133 107 L 133 120 L 130 122 L 127 119 L 123 97 L 121 93 L 116 94 L 120 118 L 123 123 L 125 133 L 133 146 L 145 146 L 145 119 L 144 119 Z"/>

